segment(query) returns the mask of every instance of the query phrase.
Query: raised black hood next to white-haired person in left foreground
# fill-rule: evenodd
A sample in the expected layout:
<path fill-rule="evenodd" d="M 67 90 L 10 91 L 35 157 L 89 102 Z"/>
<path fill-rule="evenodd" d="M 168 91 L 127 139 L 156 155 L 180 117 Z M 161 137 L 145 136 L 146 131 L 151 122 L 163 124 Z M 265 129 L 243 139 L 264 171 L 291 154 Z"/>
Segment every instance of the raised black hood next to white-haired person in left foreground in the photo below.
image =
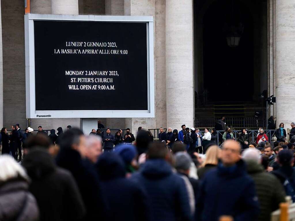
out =
<path fill-rule="evenodd" d="M 53 158 L 44 148 L 30 150 L 22 161 L 32 180 L 40 180 L 56 169 Z"/>

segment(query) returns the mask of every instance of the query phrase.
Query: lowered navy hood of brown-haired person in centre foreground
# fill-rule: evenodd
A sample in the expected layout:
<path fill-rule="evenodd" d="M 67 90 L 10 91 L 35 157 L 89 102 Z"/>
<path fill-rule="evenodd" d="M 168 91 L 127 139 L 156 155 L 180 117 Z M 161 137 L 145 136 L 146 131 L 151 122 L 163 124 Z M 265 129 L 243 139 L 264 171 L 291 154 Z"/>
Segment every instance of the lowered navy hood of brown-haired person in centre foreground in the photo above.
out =
<path fill-rule="evenodd" d="M 140 172 L 148 179 L 162 179 L 169 176 L 172 169 L 164 159 L 150 159 L 142 165 Z"/>

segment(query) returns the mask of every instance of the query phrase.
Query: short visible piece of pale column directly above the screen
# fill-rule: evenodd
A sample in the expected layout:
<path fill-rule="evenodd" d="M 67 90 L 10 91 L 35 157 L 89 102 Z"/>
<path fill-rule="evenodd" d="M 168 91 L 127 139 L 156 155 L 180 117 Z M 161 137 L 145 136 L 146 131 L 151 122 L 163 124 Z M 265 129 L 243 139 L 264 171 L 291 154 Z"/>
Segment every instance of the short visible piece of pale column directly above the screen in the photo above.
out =
<path fill-rule="evenodd" d="M 51 14 L 79 14 L 78 0 L 51 0 Z"/>

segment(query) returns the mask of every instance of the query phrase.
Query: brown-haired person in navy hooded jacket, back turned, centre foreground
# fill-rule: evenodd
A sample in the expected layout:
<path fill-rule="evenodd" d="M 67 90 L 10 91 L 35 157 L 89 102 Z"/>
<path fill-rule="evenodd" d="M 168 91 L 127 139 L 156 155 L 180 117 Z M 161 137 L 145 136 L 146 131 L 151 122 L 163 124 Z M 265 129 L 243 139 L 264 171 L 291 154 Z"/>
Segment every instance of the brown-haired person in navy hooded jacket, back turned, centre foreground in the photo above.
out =
<path fill-rule="evenodd" d="M 148 160 L 134 173 L 132 180 L 142 186 L 151 202 L 152 220 L 191 220 L 192 214 L 184 180 L 172 172 L 166 161 L 169 152 L 163 143 L 154 142 Z"/>

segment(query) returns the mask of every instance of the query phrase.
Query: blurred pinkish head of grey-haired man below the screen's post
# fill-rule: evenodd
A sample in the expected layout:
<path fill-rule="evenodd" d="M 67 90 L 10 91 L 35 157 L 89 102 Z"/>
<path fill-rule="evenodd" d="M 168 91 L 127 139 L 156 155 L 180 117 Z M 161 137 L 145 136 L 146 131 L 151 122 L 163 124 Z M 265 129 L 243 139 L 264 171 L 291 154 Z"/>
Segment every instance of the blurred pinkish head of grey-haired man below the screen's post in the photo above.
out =
<path fill-rule="evenodd" d="M 101 137 L 89 135 L 86 137 L 86 158 L 91 163 L 96 163 L 102 153 Z"/>

